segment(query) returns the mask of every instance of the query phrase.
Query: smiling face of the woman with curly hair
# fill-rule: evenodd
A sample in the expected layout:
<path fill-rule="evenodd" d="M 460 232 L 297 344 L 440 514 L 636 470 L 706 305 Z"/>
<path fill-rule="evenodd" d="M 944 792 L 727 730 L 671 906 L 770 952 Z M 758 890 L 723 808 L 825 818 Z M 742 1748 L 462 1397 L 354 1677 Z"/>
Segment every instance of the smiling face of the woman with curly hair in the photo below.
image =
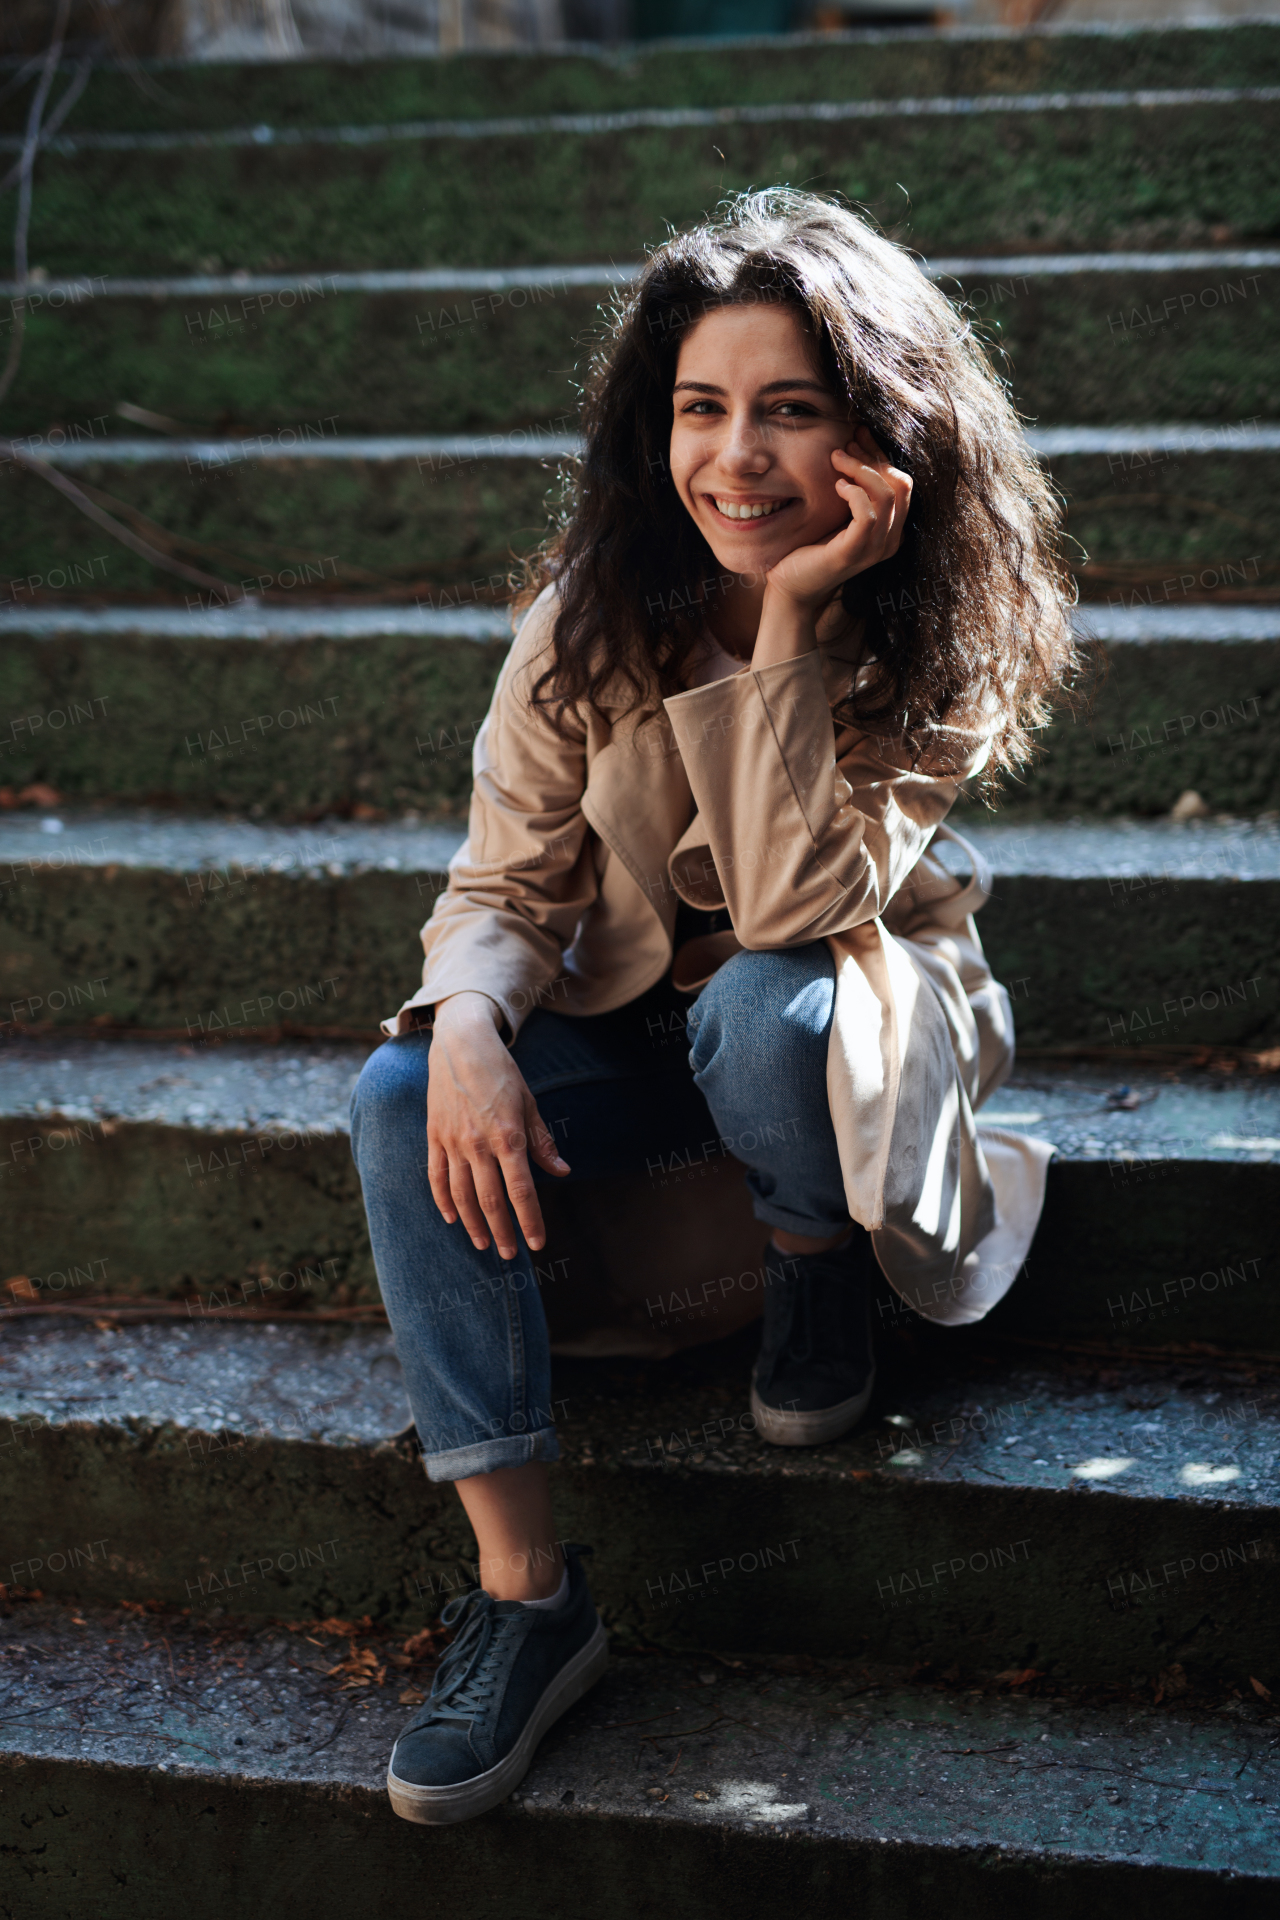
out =
<path fill-rule="evenodd" d="M 722 307 L 679 348 L 672 478 L 720 564 L 762 576 L 848 526 L 831 453 L 856 415 L 785 305 Z"/>

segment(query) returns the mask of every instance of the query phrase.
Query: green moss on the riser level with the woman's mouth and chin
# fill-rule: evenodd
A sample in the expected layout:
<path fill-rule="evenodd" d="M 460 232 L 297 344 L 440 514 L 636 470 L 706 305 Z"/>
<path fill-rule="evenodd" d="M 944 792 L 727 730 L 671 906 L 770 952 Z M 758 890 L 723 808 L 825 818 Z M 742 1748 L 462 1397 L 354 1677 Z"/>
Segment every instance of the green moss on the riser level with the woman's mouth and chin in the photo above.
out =
<path fill-rule="evenodd" d="M 1180 595 L 1188 563 L 1203 586 L 1247 586 L 1280 559 L 1280 457 L 1071 457 L 1052 463 L 1067 497 L 1067 528 L 1086 555 L 1084 595 Z M 111 541 L 46 482 L 10 468 L 6 497 L 8 593 L 52 568 L 84 568 L 106 555 L 96 591 L 182 593 L 171 576 Z M 79 468 L 94 488 L 165 528 L 182 555 L 223 580 L 288 586 L 299 563 L 313 582 L 401 586 L 451 601 L 486 597 L 512 559 L 549 524 L 555 472 L 533 461 L 474 461 L 420 470 L 415 461 L 246 463 L 211 474 L 184 467 Z M 1224 568 L 1236 568 L 1226 574 Z M 294 574 L 290 574 L 294 568 Z M 1242 572 L 1244 568 L 1244 572 Z M 1165 588 L 1163 582 L 1171 580 Z M 4 582 L 0 582 L 0 589 Z M 84 586 L 79 589 L 86 591 Z M 317 591 L 315 584 L 311 591 Z M 501 591 L 499 595 L 501 597 Z"/>

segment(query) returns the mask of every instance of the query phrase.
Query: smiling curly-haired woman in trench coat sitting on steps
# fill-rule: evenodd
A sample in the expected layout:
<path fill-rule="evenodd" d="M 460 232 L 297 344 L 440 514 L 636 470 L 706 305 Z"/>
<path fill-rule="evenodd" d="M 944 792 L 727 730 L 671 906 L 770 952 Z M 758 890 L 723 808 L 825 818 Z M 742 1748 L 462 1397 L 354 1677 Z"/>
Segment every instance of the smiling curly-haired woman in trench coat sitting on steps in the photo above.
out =
<path fill-rule="evenodd" d="M 1055 505 L 963 315 L 844 207 L 745 196 L 652 253 L 583 428 L 422 987 L 353 1102 L 426 1473 L 484 1572 L 391 1755 L 420 1822 L 510 1793 L 606 1659 L 551 1509 L 539 1183 L 725 1140 L 787 1256 L 750 1405 L 812 1446 L 869 1402 L 875 1263 L 981 1317 L 1050 1152 L 979 1140 L 1009 1006 L 981 874 L 929 851 L 1073 662 Z M 674 1014 L 687 1058 L 651 1041 Z"/>

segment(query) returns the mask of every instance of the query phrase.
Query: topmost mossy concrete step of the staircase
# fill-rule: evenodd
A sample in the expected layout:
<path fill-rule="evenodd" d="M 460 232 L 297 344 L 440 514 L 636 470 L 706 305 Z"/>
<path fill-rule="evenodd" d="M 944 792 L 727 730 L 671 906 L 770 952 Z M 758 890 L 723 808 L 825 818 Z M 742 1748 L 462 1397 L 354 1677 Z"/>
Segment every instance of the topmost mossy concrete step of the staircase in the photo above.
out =
<path fill-rule="evenodd" d="M 67 61 L 71 65 L 71 61 Z M 1272 21 L 1161 23 L 944 35 L 877 29 L 766 38 L 457 50 L 445 58 L 163 63 L 155 90 L 130 65 L 96 65 L 65 131 L 200 132 L 226 127 L 368 129 L 397 121 L 510 113 L 626 111 L 771 100 L 892 100 L 902 94 L 1075 92 L 1079 88 L 1257 86 L 1280 81 Z M 59 88 L 61 90 L 61 88 Z M 21 134 L 27 98 L 0 102 Z"/>

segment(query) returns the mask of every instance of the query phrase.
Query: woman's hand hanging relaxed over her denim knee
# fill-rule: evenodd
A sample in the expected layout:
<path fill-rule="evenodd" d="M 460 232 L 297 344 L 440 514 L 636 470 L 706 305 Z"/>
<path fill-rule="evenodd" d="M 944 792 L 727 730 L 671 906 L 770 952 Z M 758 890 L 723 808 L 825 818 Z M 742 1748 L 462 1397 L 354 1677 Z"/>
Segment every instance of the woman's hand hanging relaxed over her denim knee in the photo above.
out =
<path fill-rule="evenodd" d="M 453 993 L 436 1006 L 426 1173 L 449 1225 L 461 1219 L 482 1252 L 493 1235 L 503 1260 L 514 1260 L 509 1196 L 528 1246 L 537 1252 L 547 1240 L 528 1156 L 558 1175 L 568 1162 L 499 1037 L 499 1020 L 486 993 Z"/>

